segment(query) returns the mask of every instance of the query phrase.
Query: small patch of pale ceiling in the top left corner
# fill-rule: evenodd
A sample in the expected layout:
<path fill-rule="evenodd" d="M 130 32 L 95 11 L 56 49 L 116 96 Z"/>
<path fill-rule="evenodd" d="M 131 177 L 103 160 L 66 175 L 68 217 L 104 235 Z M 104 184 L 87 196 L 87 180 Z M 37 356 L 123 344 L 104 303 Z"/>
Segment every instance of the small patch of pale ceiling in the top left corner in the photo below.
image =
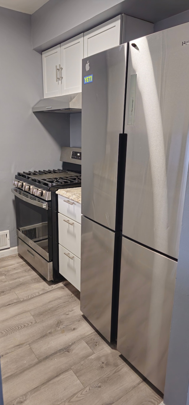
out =
<path fill-rule="evenodd" d="M 22 13 L 33 14 L 49 0 L 0 0 L 0 7 L 21 11 Z"/>

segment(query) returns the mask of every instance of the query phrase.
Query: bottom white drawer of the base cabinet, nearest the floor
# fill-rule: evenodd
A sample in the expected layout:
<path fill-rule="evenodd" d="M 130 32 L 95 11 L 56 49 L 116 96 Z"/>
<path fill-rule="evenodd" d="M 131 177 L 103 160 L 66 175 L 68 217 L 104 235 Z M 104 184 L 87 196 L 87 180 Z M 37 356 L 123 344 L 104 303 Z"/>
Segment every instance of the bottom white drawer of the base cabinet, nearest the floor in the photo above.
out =
<path fill-rule="evenodd" d="M 61 245 L 59 245 L 59 273 L 80 291 L 81 260 Z"/>

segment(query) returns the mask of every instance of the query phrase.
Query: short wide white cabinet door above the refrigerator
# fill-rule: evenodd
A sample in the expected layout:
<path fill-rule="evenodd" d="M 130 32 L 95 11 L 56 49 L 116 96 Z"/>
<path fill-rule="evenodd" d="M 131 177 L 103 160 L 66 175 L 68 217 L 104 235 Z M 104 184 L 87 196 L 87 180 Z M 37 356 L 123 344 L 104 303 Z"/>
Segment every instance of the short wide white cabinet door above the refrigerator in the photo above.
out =
<path fill-rule="evenodd" d="M 84 58 L 121 43 L 121 15 L 84 33 Z"/>

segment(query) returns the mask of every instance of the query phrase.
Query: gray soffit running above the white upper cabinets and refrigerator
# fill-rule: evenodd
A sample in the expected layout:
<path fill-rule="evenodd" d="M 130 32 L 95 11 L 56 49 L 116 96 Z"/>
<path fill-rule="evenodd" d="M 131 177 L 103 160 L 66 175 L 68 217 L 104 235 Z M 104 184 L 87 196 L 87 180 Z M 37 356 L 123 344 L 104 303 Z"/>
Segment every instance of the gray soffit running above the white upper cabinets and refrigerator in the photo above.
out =
<path fill-rule="evenodd" d="M 33 49 L 44 51 L 122 13 L 154 23 L 186 9 L 186 0 L 49 0 L 32 14 Z"/>

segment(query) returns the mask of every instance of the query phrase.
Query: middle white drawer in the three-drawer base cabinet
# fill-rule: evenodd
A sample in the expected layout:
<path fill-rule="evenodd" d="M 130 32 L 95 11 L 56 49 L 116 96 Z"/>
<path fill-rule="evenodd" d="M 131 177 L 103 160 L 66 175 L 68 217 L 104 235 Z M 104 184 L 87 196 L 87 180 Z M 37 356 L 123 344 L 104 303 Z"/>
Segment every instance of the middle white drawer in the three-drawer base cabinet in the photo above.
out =
<path fill-rule="evenodd" d="M 81 225 L 58 213 L 59 244 L 81 258 Z"/>

